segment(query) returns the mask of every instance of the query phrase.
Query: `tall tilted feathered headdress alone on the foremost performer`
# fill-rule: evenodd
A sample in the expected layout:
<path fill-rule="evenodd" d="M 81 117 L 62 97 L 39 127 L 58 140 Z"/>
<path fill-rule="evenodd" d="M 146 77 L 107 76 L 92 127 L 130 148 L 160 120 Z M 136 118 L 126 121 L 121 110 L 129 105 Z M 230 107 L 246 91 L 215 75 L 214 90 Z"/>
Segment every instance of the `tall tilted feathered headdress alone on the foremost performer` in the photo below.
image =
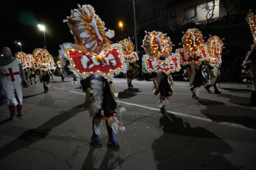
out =
<path fill-rule="evenodd" d="M 113 38 L 115 32 L 105 31 L 105 23 L 95 14 L 93 6 L 83 5 L 81 7 L 78 4 L 78 7 L 71 11 L 71 16 L 67 17 L 67 20 L 63 20 L 63 22 L 67 21 L 76 45 L 87 51 L 94 51 L 99 43 L 110 46 L 111 41 L 108 38 Z"/>

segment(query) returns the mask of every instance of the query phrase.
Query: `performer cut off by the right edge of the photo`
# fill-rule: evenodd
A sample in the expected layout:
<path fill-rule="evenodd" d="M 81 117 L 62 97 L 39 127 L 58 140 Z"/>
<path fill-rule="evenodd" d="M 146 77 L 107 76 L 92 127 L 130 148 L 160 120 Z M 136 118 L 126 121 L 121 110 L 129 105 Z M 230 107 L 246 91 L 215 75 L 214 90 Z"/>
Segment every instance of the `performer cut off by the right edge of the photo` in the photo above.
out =
<path fill-rule="evenodd" d="M 245 61 L 243 62 L 242 66 L 245 66 L 245 64 L 250 63 L 250 72 L 252 75 L 252 94 L 250 98 L 250 104 L 252 106 L 256 106 L 256 15 L 254 13 L 250 12 L 247 15 L 248 18 L 248 24 L 250 26 L 252 37 L 254 41 L 254 45 L 252 45 L 251 50 L 248 51 L 247 57 L 245 58 Z"/>

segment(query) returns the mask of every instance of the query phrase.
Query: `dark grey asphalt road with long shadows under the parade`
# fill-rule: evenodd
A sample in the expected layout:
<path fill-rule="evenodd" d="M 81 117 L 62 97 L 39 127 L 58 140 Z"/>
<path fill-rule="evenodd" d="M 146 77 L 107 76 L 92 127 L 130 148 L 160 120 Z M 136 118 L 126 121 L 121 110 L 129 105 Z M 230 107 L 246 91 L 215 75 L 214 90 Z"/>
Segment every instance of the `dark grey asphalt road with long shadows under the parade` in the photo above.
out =
<path fill-rule="evenodd" d="M 54 77 L 48 93 L 42 83 L 22 89 L 24 116 L 9 121 L 7 105 L 0 106 L 0 169 L 256 169 L 256 107 L 247 85 L 221 83 L 222 94 L 201 89 L 194 100 L 189 83 L 175 81 L 163 115 L 152 80 L 134 80 L 132 89 L 125 79 L 113 82 L 127 109 L 126 131 L 115 134 L 119 149 L 107 147 L 107 134 L 101 148 L 90 145 L 79 81 Z"/>

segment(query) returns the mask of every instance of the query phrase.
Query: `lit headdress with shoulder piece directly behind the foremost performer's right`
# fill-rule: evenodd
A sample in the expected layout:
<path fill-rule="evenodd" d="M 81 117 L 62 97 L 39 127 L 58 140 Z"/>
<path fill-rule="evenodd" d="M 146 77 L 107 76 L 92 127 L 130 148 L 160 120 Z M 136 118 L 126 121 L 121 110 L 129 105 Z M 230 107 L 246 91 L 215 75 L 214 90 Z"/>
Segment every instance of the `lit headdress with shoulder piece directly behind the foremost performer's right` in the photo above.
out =
<path fill-rule="evenodd" d="M 128 62 L 135 62 L 139 60 L 138 54 L 134 52 L 134 45 L 130 39 L 124 39 L 118 42 L 122 47 L 124 60 Z"/>

